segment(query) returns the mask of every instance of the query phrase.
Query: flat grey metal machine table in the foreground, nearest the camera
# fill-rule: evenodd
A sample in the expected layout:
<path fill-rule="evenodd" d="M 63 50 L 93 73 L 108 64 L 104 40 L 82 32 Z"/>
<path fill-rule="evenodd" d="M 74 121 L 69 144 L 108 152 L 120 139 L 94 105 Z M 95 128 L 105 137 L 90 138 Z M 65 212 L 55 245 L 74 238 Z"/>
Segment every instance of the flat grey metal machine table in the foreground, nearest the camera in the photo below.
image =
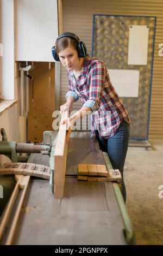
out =
<path fill-rule="evenodd" d="M 110 182 L 66 178 L 65 197 L 49 182 L 30 181 L 12 242 L 16 245 L 125 245 L 123 221 Z"/>

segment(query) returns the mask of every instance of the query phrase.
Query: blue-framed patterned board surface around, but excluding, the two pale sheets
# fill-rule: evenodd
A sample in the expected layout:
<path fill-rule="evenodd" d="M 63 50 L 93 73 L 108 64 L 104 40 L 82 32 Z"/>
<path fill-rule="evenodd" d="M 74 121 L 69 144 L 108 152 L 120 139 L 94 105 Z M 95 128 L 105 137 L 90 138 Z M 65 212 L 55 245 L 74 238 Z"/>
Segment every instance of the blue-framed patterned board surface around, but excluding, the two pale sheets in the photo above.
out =
<path fill-rule="evenodd" d="M 146 66 L 127 64 L 131 25 L 149 27 Z M 108 69 L 140 70 L 139 97 L 122 97 L 131 120 L 131 139 L 148 139 L 155 26 L 156 17 L 93 15 L 92 56 L 101 59 Z"/>

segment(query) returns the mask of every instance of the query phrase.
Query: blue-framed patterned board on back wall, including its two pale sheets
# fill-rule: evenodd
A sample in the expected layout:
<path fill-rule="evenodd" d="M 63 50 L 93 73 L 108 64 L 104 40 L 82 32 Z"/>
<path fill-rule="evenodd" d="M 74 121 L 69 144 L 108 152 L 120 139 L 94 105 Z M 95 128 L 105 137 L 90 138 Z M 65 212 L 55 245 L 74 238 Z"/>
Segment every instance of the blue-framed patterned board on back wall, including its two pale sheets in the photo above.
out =
<path fill-rule="evenodd" d="M 94 16 L 93 56 L 103 59 L 109 69 L 130 117 L 132 139 L 148 136 L 155 22 L 155 17 L 147 16 Z"/>

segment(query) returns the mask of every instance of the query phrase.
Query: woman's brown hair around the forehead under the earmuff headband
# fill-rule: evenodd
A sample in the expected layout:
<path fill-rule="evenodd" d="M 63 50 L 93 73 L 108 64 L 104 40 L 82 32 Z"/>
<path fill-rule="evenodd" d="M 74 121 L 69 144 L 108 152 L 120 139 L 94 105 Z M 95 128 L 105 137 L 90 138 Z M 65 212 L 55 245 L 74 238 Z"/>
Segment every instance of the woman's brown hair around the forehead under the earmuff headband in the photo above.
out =
<path fill-rule="evenodd" d="M 60 38 L 55 44 L 55 52 L 57 53 L 57 55 L 59 55 L 60 51 L 65 50 L 69 45 L 77 50 L 77 44 L 78 40 L 71 37 Z"/>

